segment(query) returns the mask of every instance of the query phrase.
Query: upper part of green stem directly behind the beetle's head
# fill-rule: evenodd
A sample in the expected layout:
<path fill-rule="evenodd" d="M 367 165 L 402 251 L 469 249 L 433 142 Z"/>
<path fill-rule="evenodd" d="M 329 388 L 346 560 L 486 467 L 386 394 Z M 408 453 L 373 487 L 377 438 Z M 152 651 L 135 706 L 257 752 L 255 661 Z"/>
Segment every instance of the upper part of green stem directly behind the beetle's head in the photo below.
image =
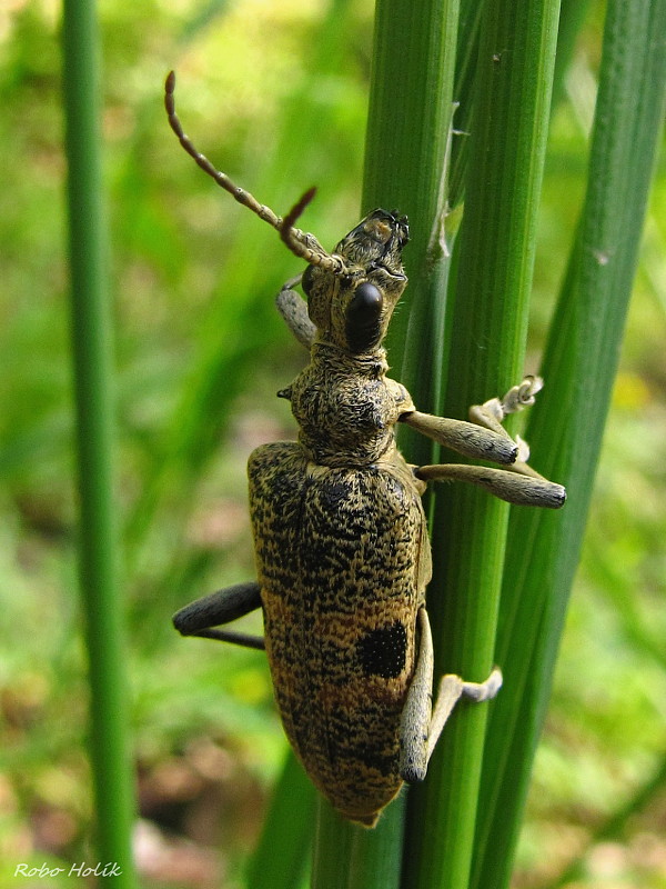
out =
<path fill-rule="evenodd" d="M 448 264 L 442 244 L 452 234 L 444 214 L 457 21 L 458 0 L 384 0 L 376 7 L 363 211 L 397 208 L 410 219 L 410 286 L 387 348 L 422 410 L 434 409 L 441 374 L 441 318 L 440 330 L 434 321 L 443 311 Z M 427 459 L 431 446 L 422 437 L 401 441 L 412 449 L 410 459 L 417 459 L 416 451 Z"/>

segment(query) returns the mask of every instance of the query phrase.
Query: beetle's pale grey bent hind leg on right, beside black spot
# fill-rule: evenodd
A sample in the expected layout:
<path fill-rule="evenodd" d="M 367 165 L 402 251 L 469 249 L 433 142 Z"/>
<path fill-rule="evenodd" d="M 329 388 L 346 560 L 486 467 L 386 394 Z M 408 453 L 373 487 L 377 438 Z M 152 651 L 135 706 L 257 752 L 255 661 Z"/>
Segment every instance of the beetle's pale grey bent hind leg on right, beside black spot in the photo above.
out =
<path fill-rule="evenodd" d="M 440 680 L 433 708 L 433 637 L 425 608 L 418 609 L 418 629 L 421 641 L 416 670 L 400 726 L 400 775 L 407 782 L 423 781 L 425 778 L 435 745 L 457 701 L 463 697 L 473 701 L 490 700 L 502 686 L 502 672 L 497 667 L 485 682 L 465 682 L 460 676 L 447 673 Z"/>

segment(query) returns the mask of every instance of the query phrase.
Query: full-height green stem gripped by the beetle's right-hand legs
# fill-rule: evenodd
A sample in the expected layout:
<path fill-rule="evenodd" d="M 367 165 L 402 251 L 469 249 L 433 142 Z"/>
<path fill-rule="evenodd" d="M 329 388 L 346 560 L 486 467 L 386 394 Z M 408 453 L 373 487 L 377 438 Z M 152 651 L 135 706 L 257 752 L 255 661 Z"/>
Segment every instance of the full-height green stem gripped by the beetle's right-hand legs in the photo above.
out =
<path fill-rule="evenodd" d="M 557 2 L 484 8 L 445 416 L 465 417 L 522 379 L 557 14 Z M 482 680 L 494 657 L 508 507 L 471 490 L 435 496 L 436 673 Z M 410 888 L 467 886 L 487 715 L 454 713 L 412 796 Z"/>

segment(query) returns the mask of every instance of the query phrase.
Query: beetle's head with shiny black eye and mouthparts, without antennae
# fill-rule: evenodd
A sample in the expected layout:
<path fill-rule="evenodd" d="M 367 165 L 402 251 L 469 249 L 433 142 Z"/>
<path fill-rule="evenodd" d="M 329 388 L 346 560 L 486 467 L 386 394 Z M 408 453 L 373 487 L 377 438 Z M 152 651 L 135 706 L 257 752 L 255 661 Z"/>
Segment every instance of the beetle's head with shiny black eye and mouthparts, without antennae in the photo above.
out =
<path fill-rule="evenodd" d="M 406 217 L 373 210 L 333 251 L 343 261 L 341 270 L 307 267 L 302 286 L 322 339 L 353 354 L 380 346 L 407 283 L 402 266 L 407 240 Z"/>

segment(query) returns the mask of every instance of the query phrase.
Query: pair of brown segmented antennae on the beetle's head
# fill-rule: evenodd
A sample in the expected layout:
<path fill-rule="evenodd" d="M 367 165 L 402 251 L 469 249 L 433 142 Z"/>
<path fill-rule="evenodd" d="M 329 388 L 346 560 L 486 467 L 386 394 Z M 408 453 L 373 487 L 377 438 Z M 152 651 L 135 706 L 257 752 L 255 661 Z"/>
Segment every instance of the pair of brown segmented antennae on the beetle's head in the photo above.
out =
<path fill-rule="evenodd" d="M 236 186 L 234 182 L 232 182 L 226 173 L 223 173 L 221 170 L 218 170 L 215 167 L 213 167 L 205 154 L 202 154 L 196 150 L 194 143 L 183 130 L 179 117 L 175 113 L 174 92 L 175 72 L 170 71 L 164 84 L 164 108 L 167 109 L 169 126 L 178 137 L 181 146 L 185 149 L 191 158 L 194 158 L 201 169 L 208 173 L 211 179 L 214 179 L 220 188 L 223 188 L 224 191 L 228 191 L 239 203 L 242 203 L 243 207 L 252 210 L 252 212 L 255 213 L 260 219 L 263 219 L 264 222 L 268 222 L 270 226 L 276 229 L 280 232 L 280 237 L 292 251 L 292 253 L 297 256 L 300 259 L 304 259 L 312 266 L 320 266 L 322 269 L 343 273 L 346 270 L 346 266 L 342 257 L 327 253 L 314 234 L 309 234 L 307 232 L 301 231 L 301 229 L 294 228 L 294 222 L 314 197 L 315 190 L 310 189 L 306 191 L 303 197 L 296 201 L 294 207 L 289 211 L 284 219 L 276 216 L 276 213 L 274 213 L 270 207 L 260 203 L 249 191 L 245 191 L 245 189 L 242 189 L 240 186 Z"/>

